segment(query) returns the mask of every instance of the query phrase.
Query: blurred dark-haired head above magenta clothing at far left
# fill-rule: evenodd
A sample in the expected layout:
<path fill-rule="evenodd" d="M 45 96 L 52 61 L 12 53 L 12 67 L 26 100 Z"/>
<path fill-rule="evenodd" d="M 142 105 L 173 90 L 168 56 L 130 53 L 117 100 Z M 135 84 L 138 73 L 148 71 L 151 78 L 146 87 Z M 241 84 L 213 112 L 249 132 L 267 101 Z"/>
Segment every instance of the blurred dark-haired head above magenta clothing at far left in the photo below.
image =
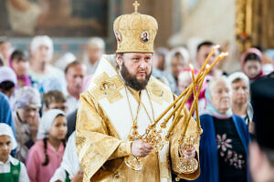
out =
<path fill-rule="evenodd" d="M 10 66 L 15 70 L 17 76 L 26 76 L 29 69 L 26 54 L 21 50 L 15 50 L 10 57 Z"/>

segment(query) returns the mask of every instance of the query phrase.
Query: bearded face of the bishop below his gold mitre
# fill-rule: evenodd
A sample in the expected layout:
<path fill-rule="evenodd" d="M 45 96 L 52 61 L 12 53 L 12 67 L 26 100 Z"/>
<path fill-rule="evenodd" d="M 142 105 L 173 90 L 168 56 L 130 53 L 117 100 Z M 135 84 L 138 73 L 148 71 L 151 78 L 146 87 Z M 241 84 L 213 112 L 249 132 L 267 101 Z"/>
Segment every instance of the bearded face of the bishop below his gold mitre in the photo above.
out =
<path fill-rule="evenodd" d="M 144 89 L 152 74 L 153 54 L 124 53 L 116 59 L 126 85 L 135 90 Z"/>

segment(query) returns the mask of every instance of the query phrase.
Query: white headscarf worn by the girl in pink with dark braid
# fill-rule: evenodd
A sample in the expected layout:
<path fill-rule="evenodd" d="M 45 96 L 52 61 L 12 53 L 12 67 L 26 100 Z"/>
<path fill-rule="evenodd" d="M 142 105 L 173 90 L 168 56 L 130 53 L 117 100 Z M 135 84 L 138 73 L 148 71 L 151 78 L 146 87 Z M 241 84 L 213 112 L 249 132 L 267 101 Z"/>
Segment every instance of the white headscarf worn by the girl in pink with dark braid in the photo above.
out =
<path fill-rule="evenodd" d="M 54 119 L 60 115 L 65 116 L 65 113 L 59 109 L 50 109 L 42 116 L 37 132 L 37 139 L 44 139 L 45 137 L 48 137 L 50 126 L 52 125 Z"/>

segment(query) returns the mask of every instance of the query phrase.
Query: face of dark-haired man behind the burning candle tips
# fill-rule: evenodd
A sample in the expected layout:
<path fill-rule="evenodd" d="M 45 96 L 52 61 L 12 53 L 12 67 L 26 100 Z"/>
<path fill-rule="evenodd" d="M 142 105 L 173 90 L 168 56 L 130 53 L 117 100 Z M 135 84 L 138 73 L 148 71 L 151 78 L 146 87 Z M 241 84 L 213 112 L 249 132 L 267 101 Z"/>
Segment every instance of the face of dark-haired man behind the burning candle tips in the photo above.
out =
<path fill-rule="evenodd" d="M 213 49 L 213 45 L 203 45 L 203 46 L 201 46 L 201 48 L 197 52 L 196 61 L 197 61 L 197 64 L 200 68 L 204 65 L 205 59 L 209 55 L 209 53 L 211 52 L 212 49 Z M 214 60 L 218 56 L 218 53 L 219 53 L 218 50 L 216 50 L 213 53 L 213 55 L 211 56 L 211 58 L 208 61 L 209 65 L 211 65 L 214 62 Z"/>

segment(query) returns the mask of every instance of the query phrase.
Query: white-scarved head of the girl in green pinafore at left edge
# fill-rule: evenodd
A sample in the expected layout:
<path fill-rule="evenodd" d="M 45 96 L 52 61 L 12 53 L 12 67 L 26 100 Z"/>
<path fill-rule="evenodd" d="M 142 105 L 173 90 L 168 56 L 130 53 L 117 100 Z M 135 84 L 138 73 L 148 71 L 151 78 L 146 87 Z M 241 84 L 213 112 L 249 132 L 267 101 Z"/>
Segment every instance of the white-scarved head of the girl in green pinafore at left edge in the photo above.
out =
<path fill-rule="evenodd" d="M 16 139 L 11 127 L 5 123 L 0 123 L 0 161 L 5 163 L 16 146 Z"/>

